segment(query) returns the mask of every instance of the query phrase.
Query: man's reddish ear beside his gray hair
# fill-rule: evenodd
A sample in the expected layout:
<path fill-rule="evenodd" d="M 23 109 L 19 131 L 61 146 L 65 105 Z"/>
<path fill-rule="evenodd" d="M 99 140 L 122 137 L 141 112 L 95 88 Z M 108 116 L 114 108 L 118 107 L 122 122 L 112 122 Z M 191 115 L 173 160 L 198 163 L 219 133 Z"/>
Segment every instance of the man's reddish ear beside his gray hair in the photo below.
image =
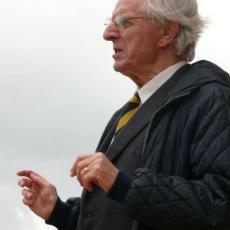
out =
<path fill-rule="evenodd" d="M 164 48 L 171 45 L 175 41 L 176 36 L 179 33 L 179 29 L 180 25 L 178 22 L 168 22 L 168 24 L 164 27 L 164 33 L 159 40 L 159 47 Z"/>

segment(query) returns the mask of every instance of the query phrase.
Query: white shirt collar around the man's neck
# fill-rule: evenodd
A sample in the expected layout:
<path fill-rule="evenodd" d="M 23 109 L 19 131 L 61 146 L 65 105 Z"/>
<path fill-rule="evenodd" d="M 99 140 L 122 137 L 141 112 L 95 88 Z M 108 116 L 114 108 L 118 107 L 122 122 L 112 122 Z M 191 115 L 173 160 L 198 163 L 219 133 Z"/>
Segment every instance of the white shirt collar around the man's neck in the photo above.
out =
<path fill-rule="evenodd" d="M 138 89 L 137 92 L 140 97 L 141 104 L 145 103 L 152 94 L 154 94 L 179 68 L 185 64 L 185 61 L 180 61 L 172 66 L 169 66 Z"/>

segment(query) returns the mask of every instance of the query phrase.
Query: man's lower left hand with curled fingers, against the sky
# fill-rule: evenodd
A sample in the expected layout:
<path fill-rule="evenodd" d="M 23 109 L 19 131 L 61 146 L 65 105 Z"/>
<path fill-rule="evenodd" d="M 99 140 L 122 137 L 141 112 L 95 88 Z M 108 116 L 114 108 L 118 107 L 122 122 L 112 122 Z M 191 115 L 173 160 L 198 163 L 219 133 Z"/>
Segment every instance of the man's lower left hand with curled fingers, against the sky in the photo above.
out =
<path fill-rule="evenodd" d="M 57 201 L 57 192 L 45 178 L 31 170 L 23 170 L 17 173 L 24 176 L 18 184 L 22 187 L 23 203 L 35 214 L 48 220 Z"/>

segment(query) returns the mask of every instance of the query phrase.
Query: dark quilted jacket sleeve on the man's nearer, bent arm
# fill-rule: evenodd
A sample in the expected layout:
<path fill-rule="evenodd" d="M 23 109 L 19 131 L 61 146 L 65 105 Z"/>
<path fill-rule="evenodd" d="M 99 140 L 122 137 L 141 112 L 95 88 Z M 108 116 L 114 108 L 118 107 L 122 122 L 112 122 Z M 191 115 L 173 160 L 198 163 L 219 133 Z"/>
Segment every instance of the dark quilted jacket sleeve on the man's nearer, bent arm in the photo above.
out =
<path fill-rule="evenodd" d="M 193 180 L 144 167 L 129 178 L 123 199 L 114 195 L 137 222 L 161 230 L 230 226 L 230 104 L 212 105 L 200 116 L 190 147 Z"/>

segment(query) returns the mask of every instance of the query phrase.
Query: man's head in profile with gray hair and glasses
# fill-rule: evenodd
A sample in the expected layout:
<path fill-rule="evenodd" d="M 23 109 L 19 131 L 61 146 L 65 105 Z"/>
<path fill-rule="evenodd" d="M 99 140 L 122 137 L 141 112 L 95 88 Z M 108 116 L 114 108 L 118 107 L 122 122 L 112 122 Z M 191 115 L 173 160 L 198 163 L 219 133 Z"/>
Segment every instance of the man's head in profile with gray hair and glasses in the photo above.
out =
<path fill-rule="evenodd" d="M 202 27 L 195 0 L 119 0 L 104 38 L 113 42 L 114 69 L 142 86 L 191 60 Z"/>

